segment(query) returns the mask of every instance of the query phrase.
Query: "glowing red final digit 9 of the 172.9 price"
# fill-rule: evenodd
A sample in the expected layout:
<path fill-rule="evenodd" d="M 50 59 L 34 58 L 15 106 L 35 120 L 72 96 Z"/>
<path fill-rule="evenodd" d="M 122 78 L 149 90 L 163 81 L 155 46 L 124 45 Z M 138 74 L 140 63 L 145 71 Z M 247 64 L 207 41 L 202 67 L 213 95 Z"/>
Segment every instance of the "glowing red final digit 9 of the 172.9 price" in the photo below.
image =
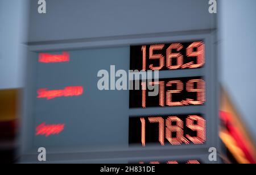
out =
<path fill-rule="evenodd" d="M 196 84 L 196 88 L 194 85 Z M 203 79 L 199 80 L 189 80 L 187 82 L 187 91 L 188 92 L 196 92 L 196 101 L 193 99 L 187 99 L 187 102 L 192 105 L 203 105 L 205 102 L 205 82 Z"/>

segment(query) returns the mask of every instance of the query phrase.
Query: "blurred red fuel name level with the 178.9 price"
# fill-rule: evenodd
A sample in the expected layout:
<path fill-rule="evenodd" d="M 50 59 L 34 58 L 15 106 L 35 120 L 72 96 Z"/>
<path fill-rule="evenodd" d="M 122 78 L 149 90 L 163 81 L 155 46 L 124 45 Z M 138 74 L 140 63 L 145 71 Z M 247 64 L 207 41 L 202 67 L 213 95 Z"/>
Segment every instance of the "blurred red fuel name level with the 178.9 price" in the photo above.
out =
<path fill-rule="evenodd" d="M 36 127 L 36 136 L 45 135 L 46 137 L 48 137 L 50 135 L 58 135 L 64 130 L 64 126 L 65 124 L 46 125 L 46 123 L 44 122 Z"/>

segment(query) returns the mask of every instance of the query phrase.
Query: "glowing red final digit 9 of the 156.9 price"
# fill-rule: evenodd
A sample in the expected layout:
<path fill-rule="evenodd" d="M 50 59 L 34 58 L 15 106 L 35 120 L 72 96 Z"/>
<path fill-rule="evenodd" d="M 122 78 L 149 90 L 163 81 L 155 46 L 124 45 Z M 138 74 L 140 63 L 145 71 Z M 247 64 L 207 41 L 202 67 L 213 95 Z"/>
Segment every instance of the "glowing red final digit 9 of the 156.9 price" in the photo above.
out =
<path fill-rule="evenodd" d="M 194 48 L 197 49 L 197 51 L 194 51 Z M 196 64 L 193 62 L 188 62 L 187 64 L 183 65 L 183 68 L 200 68 L 205 64 L 205 46 L 202 41 L 199 42 L 193 42 L 189 47 L 187 48 L 187 56 L 188 57 L 196 57 Z"/>

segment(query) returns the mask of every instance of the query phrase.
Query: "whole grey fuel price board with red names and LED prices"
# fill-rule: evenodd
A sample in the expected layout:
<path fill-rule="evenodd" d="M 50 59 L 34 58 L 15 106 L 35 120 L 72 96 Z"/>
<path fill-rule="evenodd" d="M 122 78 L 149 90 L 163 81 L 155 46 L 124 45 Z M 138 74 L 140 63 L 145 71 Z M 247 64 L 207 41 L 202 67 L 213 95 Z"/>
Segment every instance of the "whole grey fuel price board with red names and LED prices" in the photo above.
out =
<path fill-rule="evenodd" d="M 45 147 L 53 161 L 60 161 L 54 153 L 68 161 L 79 151 L 85 163 L 102 163 L 104 155 L 113 163 L 205 163 L 207 156 L 200 155 L 217 140 L 212 40 L 209 35 L 155 40 L 31 49 L 24 148 Z M 112 82 L 123 78 L 120 70 L 157 70 L 159 78 L 133 80 L 137 90 L 111 90 Z M 148 85 L 158 86 L 155 96 Z"/>

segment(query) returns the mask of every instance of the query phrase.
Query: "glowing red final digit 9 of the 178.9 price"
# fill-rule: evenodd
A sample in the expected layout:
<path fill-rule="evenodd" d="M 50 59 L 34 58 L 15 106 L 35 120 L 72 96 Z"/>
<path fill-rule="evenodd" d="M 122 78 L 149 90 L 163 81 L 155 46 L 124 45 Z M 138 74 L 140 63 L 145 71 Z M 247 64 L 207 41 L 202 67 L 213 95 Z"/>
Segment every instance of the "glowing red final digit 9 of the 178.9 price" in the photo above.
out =
<path fill-rule="evenodd" d="M 189 115 L 186 119 L 186 125 L 192 131 L 197 131 L 196 137 L 186 135 L 187 138 L 194 144 L 203 144 L 206 140 L 205 119 L 197 115 Z"/>

